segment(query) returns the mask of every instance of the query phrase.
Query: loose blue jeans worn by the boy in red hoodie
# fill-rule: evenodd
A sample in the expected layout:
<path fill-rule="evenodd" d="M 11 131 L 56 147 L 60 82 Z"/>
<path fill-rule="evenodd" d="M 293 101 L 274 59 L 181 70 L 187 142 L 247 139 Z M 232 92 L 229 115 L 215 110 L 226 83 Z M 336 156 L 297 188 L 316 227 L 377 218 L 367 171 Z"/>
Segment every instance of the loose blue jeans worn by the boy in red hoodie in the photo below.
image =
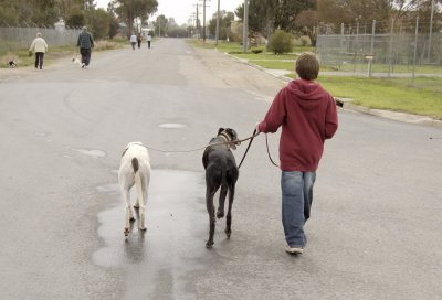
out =
<path fill-rule="evenodd" d="M 311 216 L 315 180 L 316 172 L 282 171 L 283 227 L 285 240 L 291 247 L 307 244 L 304 224 Z"/>

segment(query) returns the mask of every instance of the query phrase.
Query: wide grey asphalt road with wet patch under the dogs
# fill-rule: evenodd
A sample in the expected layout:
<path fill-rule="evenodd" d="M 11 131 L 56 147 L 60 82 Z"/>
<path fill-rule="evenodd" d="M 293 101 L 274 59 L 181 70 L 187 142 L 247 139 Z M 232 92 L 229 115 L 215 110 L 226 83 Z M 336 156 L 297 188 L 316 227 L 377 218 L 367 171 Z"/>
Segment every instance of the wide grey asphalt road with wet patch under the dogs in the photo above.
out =
<path fill-rule="evenodd" d="M 255 139 L 232 237 L 206 249 L 202 151 L 150 151 L 147 232 L 123 235 L 129 141 L 166 151 L 249 137 L 284 85 L 182 40 L 0 73 L 0 298 L 441 299 L 442 130 L 339 110 L 308 245 L 284 251 L 280 171 Z M 277 158 L 278 133 L 270 138 Z M 235 151 L 242 158 L 245 144 Z"/>

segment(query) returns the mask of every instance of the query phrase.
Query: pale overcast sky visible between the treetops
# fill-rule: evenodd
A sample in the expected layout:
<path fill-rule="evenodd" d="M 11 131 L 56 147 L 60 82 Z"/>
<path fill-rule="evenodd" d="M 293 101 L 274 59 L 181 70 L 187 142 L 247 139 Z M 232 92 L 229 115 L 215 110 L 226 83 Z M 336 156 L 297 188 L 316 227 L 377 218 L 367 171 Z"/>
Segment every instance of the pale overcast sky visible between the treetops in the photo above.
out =
<path fill-rule="evenodd" d="M 110 0 L 95 0 L 97 8 L 107 8 Z M 201 7 L 198 9 L 200 20 L 202 21 L 202 2 L 203 0 L 157 0 L 158 11 L 149 19 L 155 20 L 157 15 L 164 14 L 166 18 L 173 18 L 175 22 L 179 25 L 187 24 L 192 13 L 197 12 L 197 3 Z M 220 10 L 232 11 L 244 3 L 244 0 L 219 0 Z M 217 12 L 218 0 L 206 0 L 206 21 L 209 21 L 213 13 Z"/>

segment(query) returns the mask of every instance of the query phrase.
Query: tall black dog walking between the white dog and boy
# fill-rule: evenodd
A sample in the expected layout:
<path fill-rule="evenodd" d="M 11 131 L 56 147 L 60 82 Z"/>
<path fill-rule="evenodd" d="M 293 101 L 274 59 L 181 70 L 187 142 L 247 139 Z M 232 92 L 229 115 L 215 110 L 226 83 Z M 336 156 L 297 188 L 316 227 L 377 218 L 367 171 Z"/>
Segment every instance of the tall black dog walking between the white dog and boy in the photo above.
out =
<path fill-rule="evenodd" d="M 202 164 L 206 169 L 206 205 L 210 224 L 209 240 L 206 243 L 207 248 L 212 248 L 213 245 L 215 223 L 213 196 L 220 186 L 220 203 L 217 217 L 221 218 L 224 216 L 224 202 L 229 190 L 229 211 L 225 225 L 228 238 L 230 238 L 230 234 L 232 233 L 232 204 L 239 171 L 230 148 L 236 149 L 236 144 L 240 144 L 236 132 L 230 128 L 220 128 L 218 130 L 218 136 L 210 140 L 209 147 L 206 148 L 202 154 Z"/>

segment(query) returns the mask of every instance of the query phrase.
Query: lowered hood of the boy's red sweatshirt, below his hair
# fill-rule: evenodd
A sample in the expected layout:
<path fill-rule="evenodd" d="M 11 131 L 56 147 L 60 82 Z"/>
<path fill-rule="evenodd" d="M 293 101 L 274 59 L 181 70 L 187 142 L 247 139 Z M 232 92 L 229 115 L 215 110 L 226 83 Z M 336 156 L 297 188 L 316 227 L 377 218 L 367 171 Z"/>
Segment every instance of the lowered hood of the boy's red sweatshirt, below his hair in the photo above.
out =
<path fill-rule="evenodd" d="M 325 90 L 313 81 L 295 79 L 287 85 L 287 93 L 295 96 L 291 98 L 296 100 L 301 107 L 309 110 L 320 105 Z"/>

